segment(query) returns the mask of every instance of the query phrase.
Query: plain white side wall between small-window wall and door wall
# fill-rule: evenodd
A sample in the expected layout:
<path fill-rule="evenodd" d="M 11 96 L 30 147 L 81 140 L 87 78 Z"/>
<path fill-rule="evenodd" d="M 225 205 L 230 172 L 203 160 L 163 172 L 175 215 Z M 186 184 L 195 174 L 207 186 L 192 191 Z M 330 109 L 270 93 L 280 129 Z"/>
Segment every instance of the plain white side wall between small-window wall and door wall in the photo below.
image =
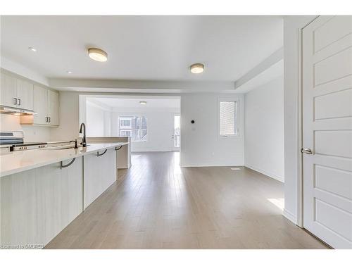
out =
<path fill-rule="evenodd" d="M 283 76 L 244 96 L 244 165 L 284 182 Z"/>

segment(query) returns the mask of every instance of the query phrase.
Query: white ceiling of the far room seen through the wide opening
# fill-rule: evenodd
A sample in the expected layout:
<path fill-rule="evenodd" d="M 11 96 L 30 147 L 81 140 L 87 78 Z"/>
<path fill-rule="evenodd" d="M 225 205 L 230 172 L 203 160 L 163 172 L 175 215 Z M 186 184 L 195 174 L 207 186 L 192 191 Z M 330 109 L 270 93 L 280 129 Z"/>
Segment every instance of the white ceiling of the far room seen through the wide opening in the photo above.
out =
<path fill-rule="evenodd" d="M 180 108 L 180 98 L 151 98 L 151 97 L 87 97 L 87 101 L 99 103 L 109 108 Z M 140 101 L 146 101 L 146 105 L 141 105 Z"/>

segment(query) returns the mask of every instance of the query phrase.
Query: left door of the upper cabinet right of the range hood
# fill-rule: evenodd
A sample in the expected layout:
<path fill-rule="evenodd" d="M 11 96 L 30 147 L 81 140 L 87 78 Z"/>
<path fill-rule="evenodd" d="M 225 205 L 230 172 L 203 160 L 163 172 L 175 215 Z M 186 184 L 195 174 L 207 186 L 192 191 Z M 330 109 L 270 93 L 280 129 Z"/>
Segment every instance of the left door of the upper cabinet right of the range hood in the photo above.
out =
<path fill-rule="evenodd" d="M 48 116 L 48 90 L 34 85 L 33 89 L 33 110 L 37 113 L 34 115 L 34 124 L 48 125 L 46 117 Z"/>

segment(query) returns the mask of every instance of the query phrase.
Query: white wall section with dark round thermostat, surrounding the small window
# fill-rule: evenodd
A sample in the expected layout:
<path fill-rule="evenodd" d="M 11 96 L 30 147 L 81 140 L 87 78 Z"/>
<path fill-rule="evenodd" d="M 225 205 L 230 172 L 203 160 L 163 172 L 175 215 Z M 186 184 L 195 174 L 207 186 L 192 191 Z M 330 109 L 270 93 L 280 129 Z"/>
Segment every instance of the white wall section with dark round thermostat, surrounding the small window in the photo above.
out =
<path fill-rule="evenodd" d="M 239 136 L 218 136 L 219 96 L 239 99 Z M 191 120 L 195 120 L 191 124 Z M 184 94 L 181 98 L 182 166 L 244 165 L 244 100 L 241 94 Z"/>

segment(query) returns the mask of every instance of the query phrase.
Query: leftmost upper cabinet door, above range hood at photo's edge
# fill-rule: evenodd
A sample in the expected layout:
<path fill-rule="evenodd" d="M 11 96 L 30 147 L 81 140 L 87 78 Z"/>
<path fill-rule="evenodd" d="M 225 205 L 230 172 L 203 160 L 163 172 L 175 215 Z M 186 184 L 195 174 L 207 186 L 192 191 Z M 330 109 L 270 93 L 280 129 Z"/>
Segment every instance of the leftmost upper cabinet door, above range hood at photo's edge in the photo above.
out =
<path fill-rule="evenodd" d="M 18 107 L 16 104 L 16 79 L 1 73 L 1 106 Z"/>

